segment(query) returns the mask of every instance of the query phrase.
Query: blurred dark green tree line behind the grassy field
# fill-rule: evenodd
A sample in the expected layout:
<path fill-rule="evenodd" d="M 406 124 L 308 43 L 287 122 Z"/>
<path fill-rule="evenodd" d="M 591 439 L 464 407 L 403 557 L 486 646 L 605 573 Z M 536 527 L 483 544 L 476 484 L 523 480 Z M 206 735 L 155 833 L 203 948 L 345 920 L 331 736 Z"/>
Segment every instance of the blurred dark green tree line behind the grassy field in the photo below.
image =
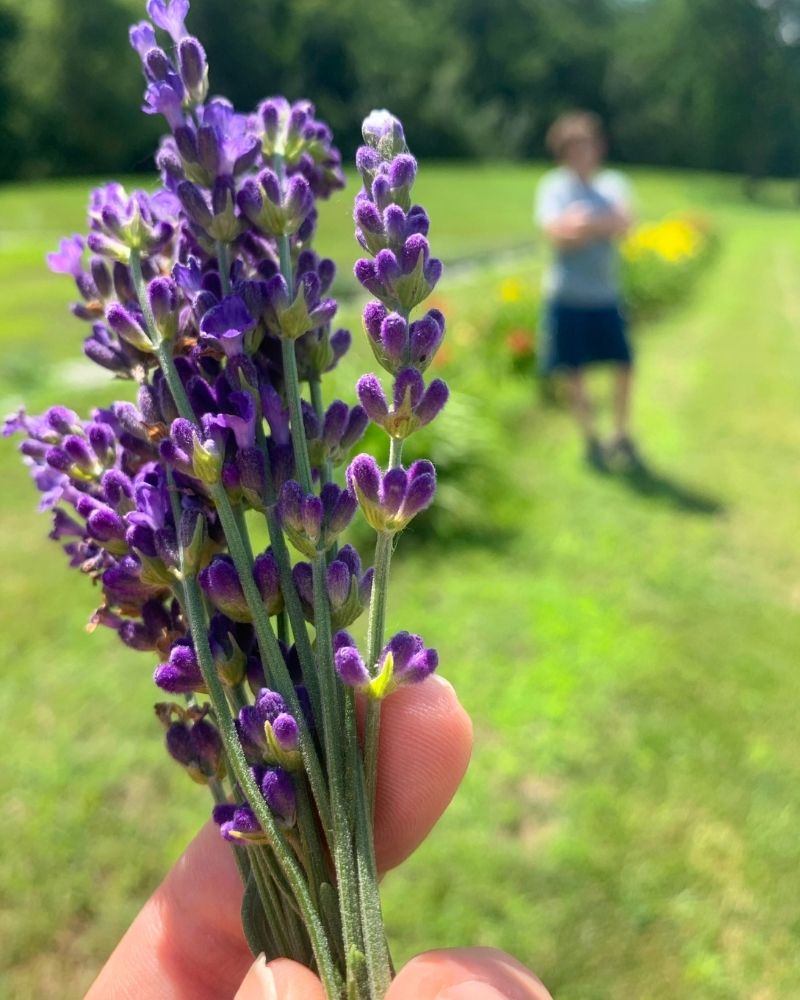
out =
<path fill-rule="evenodd" d="M 143 0 L 0 0 L 0 178 L 149 169 Z M 308 96 L 349 156 L 390 107 L 428 157 L 541 157 L 560 111 L 623 162 L 800 174 L 800 0 L 194 0 L 212 93 Z"/>

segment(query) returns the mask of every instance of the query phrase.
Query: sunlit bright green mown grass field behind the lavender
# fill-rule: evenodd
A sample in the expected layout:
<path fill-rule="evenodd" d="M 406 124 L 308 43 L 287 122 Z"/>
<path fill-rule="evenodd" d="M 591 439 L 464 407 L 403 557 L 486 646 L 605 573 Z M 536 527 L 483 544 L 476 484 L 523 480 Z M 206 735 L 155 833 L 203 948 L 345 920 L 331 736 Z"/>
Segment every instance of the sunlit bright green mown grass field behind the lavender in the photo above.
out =
<path fill-rule="evenodd" d="M 800 995 L 800 232 L 779 186 L 753 205 L 734 178 L 634 179 L 643 214 L 699 209 L 720 233 L 691 300 L 639 330 L 652 475 L 585 471 L 566 416 L 464 348 L 464 420 L 445 426 L 474 442 L 485 527 L 401 543 L 388 624 L 438 646 L 476 749 L 429 842 L 386 879 L 386 916 L 400 960 L 496 945 L 559 1000 L 785 1000 Z M 531 246 L 446 279 L 446 299 L 477 310 L 506 273 L 533 273 L 534 182 L 423 171 L 446 259 Z M 83 328 L 42 264 L 84 197 L 0 190 L 4 410 L 118 388 L 70 363 Z M 347 198 L 323 224 L 344 287 Z M 0 470 L 0 996 L 75 997 L 207 802 L 163 753 L 153 663 L 86 635 L 90 588 L 8 444 Z"/>

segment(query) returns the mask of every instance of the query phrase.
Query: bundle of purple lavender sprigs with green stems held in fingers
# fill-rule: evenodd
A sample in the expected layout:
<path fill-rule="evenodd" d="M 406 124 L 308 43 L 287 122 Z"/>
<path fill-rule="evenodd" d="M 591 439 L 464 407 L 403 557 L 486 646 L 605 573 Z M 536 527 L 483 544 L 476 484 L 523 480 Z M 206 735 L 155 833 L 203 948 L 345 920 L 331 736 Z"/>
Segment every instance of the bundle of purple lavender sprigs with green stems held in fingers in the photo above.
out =
<path fill-rule="evenodd" d="M 326 407 L 322 376 L 350 334 L 333 328 L 335 268 L 313 242 L 317 200 L 344 184 L 340 155 L 307 101 L 239 114 L 208 99 L 188 9 L 149 0 L 150 21 L 130 33 L 143 110 L 170 129 L 160 186 L 98 188 L 88 236 L 49 256 L 77 285 L 86 355 L 135 381 L 137 404 L 87 421 L 63 406 L 21 411 L 6 433 L 25 435 L 50 537 L 100 588 L 92 626 L 159 661 L 166 747 L 213 795 L 253 952 L 308 964 L 332 998 L 379 998 L 392 975 L 372 833 L 380 706 L 437 666 L 419 636 L 384 632 L 395 537 L 436 485 L 430 462 L 406 469 L 401 454 L 447 399 L 423 379 L 444 317 L 411 318 L 442 268 L 412 203 L 402 126 L 373 112 L 356 160 L 368 256 L 355 274 L 374 296 L 364 328 L 393 384 L 387 396 L 364 375 L 360 405 Z M 368 421 L 389 436 L 389 468 L 362 454 L 337 482 Z M 367 570 L 340 544 L 359 506 L 376 536 Z M 367 608 L 359 649 L 345 629 Z"/>

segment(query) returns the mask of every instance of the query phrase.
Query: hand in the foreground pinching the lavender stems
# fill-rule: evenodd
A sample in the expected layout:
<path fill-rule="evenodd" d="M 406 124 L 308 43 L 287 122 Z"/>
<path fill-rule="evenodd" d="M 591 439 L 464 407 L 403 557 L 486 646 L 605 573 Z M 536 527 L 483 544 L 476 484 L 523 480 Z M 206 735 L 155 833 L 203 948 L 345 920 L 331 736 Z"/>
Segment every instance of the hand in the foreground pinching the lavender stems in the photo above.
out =
<path fill-rule="evenodd" d="M 464 776 L 472 724 L 453 688 L 432 677 L 384 704 L 375 815 L 385 872 L 419 846 Z M 241 928 L 231 849 L 206 824 L 150 897 L 86 1000 L 325 1000 L 288 959 L 253 963 Z M 243 981 L 244 980 L 244 981 Z M 522 965 L 491 949 L 436 951 L 400 971 L 387 1000 L 548 1000 Z"/>

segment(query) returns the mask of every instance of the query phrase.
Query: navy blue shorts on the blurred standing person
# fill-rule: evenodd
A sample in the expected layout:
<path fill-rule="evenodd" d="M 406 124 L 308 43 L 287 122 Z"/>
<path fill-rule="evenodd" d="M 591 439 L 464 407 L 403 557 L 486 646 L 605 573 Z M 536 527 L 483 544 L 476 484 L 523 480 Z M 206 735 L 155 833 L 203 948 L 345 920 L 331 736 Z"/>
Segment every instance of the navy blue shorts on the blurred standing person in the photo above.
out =
<path fill-rule="evenodd" d="M 631 364 L 633 352 L 627 327 L 619 305 L 582 307 L 548 303 L 540 352 L 542 370 L 550 373 L 593 364 Z"/>

